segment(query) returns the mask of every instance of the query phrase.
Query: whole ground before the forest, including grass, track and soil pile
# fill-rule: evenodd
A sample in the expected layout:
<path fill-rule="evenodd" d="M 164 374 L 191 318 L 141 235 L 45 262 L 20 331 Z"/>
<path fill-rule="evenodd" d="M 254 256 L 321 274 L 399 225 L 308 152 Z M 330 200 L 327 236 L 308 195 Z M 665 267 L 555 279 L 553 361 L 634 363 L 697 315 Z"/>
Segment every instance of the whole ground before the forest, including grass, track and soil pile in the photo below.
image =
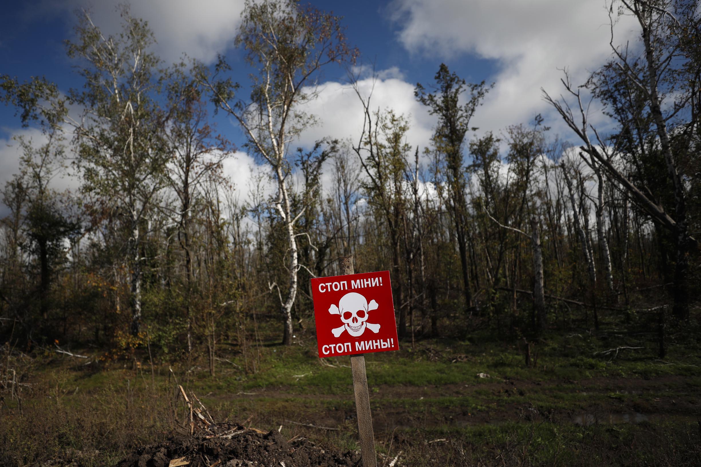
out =
<path fill-rule="evenodd" d="M 496 345 L 468 361 L 456 357 L 465 349 L 456 349 L 429 362 L 421 348 L 378 358 L 375 367 L 370 360 L 380 465 L 701 465 L 697 358 L 659 361 L 639 352 L 571 363 L 558 351 L 528 368 L 518 349 Z M 323 365 L 313 351 L 295 347 L 262 352 L 259 371 L 244 373 L 231 355 L 236 365 L 222 365 L 216 378 L 201 363 L 151 372 L 53 362 L 22 379 L 21 411 L 9 395 L 0 407 L 0 465 L 357 465 L 344 362 Z M 185 391 L 208 417 L 193 435 Z"/>

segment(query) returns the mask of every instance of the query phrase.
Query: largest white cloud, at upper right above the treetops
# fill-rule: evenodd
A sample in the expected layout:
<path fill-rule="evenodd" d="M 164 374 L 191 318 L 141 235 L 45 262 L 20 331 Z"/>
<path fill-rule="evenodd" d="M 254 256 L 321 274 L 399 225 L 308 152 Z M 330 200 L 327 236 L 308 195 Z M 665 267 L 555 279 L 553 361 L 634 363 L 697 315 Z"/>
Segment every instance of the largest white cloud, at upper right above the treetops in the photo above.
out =
<path fill-rule="evenodd" d="M 395 0 L 390 10 L 400 24 L 400 42 L 413 53 L 448 63 L 465 53 L 497 60 L 496 85 L 475 116 L 482 130 L 551 113 L 540 88 L 553 96 L 563 91 L 558 69 L 569 69 L 579 85 L 611 54 L 604 0 Z M 633 34 L 630 21 L 619 22 L 617 42 Z M 564 132 L 558 118 L 551 123 Z"/>

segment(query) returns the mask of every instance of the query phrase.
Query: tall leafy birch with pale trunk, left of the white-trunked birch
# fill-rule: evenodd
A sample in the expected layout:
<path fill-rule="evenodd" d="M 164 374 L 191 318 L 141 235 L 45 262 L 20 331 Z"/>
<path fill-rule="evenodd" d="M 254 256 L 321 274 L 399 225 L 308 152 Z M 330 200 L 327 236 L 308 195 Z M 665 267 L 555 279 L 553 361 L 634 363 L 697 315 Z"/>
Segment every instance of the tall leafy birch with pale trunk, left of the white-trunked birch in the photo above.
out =
<path fill-rule="evenodd" d="M 142 244 L 147 218 L 165 183 L 167 144 L 163 138 L 165 113 L 155 95 L 160 60 L 147 22 L 121 8 L 122 31 L 105 36 L 83 11 L 67 41 L 69 57 L 79 62 L 85 80 L 71 90 L 69 100 L 84 110 L 79 119 L 66 117 L 74 127 L 82 189 L 111 200 L 125 227 L 125 265 L 130 284 L 131 332 L 138 335 L 142 319 Z"/>

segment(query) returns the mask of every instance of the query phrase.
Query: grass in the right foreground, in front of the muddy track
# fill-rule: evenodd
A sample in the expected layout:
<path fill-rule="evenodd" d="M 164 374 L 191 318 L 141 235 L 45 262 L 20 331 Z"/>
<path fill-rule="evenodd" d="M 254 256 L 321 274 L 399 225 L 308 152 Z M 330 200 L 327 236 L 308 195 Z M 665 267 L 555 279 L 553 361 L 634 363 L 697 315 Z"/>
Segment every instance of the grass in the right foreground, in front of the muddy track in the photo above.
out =
<path fill-rule="evenodd" d="M 513 421 L 404 430 L 404 435 L 460 445 L 460 460 L 466 464 L 489 459 L 488 465 L 507 466 L 693 466 L 701 459 L 694 430 L 690 423 L 576 426 Z M 411 465 L 433 465 L 426 462 L 425 452 L 411 460 Z"/>

